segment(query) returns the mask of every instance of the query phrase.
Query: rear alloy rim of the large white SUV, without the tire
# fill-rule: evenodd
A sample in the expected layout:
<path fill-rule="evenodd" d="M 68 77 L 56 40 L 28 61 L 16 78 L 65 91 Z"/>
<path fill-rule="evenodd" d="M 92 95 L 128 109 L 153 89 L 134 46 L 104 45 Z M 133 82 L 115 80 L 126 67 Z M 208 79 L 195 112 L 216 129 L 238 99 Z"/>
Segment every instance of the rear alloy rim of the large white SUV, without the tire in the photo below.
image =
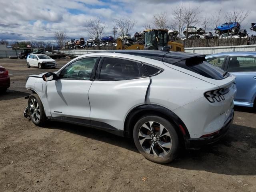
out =
<path fill-rule="evenodd" d="M 166 156 L 172 148 L 170 133 L 155 121 L 144 123 L 139 129 L 138 138 L 144 151 L 155 157 Z"/>

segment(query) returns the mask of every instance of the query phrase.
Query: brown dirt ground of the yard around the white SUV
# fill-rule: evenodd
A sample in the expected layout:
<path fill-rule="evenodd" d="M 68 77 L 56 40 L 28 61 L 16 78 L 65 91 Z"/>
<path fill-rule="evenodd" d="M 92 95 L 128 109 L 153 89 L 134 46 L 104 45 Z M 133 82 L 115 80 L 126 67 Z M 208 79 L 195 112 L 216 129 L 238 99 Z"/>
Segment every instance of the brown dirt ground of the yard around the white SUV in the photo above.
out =
<path fill-rule="evenodd" d="M 68 60 L 57 62 L 61 67 Z M 0 192 L 256 191 L 252 110 L 235 108 L 234 124 L 217 144 L 160 165 L 143 158 L 127 138 L 59 122 L 35 126 L 22 114 L 30 93 L 25 78 L 56 69 L 26 68 L 20 59 L 1 59 L 0 65 L 11 78 L 0 95 Z"/>

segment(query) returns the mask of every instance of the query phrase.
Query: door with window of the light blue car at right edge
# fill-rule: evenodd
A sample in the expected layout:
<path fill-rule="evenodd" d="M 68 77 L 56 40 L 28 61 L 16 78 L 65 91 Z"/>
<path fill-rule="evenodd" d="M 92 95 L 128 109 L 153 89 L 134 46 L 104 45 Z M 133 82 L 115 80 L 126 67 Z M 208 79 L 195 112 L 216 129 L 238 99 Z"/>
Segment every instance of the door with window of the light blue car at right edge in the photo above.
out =
<path fill-rule="evenodd" d="M 236 102 L 253 106 L 256 93 L 256 57 L 255 56 L 230 56 L 228 71 L 236 76 L 237 94 Z"/>

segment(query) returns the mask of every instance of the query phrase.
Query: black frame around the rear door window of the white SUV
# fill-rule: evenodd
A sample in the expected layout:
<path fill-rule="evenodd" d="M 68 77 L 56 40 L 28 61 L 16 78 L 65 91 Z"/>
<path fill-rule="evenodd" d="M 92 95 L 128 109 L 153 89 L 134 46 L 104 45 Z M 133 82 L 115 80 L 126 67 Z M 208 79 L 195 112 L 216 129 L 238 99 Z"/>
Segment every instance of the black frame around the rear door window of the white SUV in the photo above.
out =
<path fill-rule="evenodd" d="M 98 81 L 125 81 L 125 80 L 132 80 L 132 79 L 140 79 L 140 78 L 149 77 L 147 75 L 147 76 L 142 76 L 142 77 L 138 77 L 138 78 L 129 78 L 129 79 L 122 79 L 122 80 L 101 80 L 100 79 L 100 72 L 101 72 L 102 64 L 104 63 L 105 58 L 116 58 L 116 59 L 122 59 L 122 60 L 127 60 L 127 61 L 131 61 L 131 62 L 140 63 L 140 64 L 142 64 L 142 67 L 144 68 L 143 63 L 140 62 L 140 61 L 137 61 L 137 60 L 132 60 L 132 59 L 129 59 L 129 58 L 122 58 L 122 57 L 114 57 L 114 56 L 101 56 L 101 59 L 100 59 L 100 62 L 98 64 L 98 68 L 97 68 L 94 80 L 98 80 Z M 144 68 L 144 70 L 146 70 L 146 69 Z"/>

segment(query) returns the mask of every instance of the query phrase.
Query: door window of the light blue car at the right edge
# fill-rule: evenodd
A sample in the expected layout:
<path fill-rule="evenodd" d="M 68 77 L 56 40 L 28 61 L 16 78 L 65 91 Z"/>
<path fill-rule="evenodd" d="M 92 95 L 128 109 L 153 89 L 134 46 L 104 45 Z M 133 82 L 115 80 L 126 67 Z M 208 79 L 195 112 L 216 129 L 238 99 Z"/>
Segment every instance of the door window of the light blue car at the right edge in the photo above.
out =
<path fill-rule="evenodd" d="M 228 71 L 230 72 L 256 72 L 256 57 L 230 56 Z"/>

